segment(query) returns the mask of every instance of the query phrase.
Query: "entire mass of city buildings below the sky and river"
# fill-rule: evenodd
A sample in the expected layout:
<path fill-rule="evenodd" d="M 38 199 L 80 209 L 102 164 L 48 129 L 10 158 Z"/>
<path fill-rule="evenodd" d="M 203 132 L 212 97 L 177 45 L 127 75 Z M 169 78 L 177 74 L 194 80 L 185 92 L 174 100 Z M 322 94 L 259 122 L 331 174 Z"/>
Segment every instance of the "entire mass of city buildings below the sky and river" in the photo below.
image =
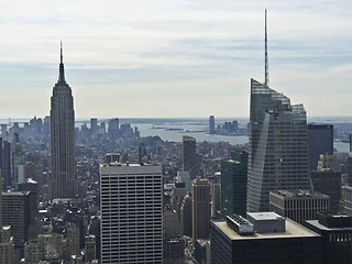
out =
<path fill-rule="evenodd" d="M 265 76 L 248 146 L 178 144 L 119 119 L 76 129 L 61 54 L 51 117 L 1 127 L 0 262 L 351 263 L 352 157 Z"/>

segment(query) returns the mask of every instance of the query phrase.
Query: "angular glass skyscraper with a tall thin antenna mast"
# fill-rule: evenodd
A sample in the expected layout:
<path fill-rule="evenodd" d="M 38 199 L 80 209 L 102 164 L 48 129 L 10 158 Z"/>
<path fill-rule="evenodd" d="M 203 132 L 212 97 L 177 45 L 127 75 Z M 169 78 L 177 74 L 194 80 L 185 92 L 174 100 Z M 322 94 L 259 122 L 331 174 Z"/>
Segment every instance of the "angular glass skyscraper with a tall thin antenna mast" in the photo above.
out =
<path fill-rule="evenodd" d="M 265 11 L 265 82 L 251 79 L 248 211 L 267 211 L 271 190 L 310 189 L 306 110 L 268 87 L 266 35 Z"/>

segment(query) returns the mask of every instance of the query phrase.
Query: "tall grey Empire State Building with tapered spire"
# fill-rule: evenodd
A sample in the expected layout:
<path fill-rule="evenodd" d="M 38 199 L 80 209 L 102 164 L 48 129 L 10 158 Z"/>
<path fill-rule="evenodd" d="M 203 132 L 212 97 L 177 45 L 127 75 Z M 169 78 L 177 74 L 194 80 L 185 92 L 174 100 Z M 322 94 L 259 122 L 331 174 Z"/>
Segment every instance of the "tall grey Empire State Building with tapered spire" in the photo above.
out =
<path fill-rule="evenodd" d="M 63 48 L 58 81 L 51 103 L 52 198 L 74 198 L 77 193 L 75 172 L 75 110 L 72 89 L 65 80 Z"/>

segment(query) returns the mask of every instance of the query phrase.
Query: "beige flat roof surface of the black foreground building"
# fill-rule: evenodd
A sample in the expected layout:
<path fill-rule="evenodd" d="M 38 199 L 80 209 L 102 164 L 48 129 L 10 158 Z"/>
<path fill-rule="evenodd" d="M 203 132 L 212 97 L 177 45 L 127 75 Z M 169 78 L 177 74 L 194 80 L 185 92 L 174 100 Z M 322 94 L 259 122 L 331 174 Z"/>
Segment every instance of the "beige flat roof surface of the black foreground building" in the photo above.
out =
<path fill-rule="evenodd" d="M 212 221 L 212 223 L 220 229 L 224 234 L 231 240 L 255 240 L 255 239 L 293 239 L 293 238 L 316 238 L 320 237 L 314 231 L 302 227 L 299 223 L 286 218 L 286 231 L 277 233 L 254 233 L 254 234 L 238 234 L 233 229 L 231 229 L 226 221 Z"/>

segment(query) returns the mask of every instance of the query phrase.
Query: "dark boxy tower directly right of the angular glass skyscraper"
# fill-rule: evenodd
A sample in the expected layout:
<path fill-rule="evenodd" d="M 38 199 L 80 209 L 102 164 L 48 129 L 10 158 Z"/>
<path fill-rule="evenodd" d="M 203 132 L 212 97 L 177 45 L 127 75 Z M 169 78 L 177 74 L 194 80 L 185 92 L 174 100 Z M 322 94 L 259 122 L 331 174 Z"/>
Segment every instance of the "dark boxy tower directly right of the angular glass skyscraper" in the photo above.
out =
<path fill-rule="evenodd" d="M 309 168 L 317 169 L 320 154 L 333 154 L 333 125 L 308 124 Z"/>

